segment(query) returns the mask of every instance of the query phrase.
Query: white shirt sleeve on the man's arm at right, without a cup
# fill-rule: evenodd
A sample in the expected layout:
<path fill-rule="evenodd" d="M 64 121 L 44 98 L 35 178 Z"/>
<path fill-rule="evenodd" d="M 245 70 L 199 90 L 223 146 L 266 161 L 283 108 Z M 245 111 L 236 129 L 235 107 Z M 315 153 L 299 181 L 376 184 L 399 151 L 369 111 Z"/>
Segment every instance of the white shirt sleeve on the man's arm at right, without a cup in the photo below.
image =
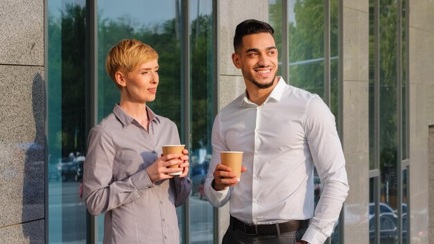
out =
<path fill-rule="evenodd" d="M 335 118 L 319 96 L 313 97 L 307 105 L 304 130 L 324 187 L 311 225 L 302 239 L 320 244 L 330 236 L 347 198 L 349 186 Z"/>

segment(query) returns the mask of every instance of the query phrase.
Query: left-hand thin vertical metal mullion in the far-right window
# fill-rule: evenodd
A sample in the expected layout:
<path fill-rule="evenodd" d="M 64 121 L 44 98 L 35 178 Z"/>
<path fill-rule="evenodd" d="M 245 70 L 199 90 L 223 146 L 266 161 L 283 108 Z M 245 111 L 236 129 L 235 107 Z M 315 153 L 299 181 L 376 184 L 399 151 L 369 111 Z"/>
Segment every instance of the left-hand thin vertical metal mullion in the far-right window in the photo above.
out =
<path fill-rule="evenodd" d="M 375 243 L 380 243 L 380 1 L 374 0 L 374 168 L 380 175 L 374 182 L 375 193 Z"/>

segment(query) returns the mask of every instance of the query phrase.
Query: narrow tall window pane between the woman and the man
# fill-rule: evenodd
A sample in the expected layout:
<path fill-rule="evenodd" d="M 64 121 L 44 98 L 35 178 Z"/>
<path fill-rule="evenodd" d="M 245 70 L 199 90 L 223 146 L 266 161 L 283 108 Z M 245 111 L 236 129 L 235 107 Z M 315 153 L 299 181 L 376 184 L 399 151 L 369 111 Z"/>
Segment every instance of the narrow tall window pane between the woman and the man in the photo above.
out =
<path fill-rule="evenodd" d="M 191 148 L 190 243 L 213 243 L 213 207 L 203 187 L 211 159 L 213 110 L 213 15 L 211 0 L 190 1 Z"/>

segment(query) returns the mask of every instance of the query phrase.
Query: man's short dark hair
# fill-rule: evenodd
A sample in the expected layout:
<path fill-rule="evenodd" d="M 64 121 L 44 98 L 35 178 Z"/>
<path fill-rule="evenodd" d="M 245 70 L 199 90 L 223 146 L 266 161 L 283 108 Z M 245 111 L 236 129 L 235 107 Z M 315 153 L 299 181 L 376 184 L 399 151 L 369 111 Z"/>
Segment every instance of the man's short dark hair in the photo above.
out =
<path fill-rule="evenodd" d="M 243 44 L 243 37 L 245 35 L 257 33 L 270 33 L 274 38 L 273 34 L 275 33 L 275 30 L 270 26 L 270 24 L 256 19 L 247 19 L 238 24 L 235 29 L 234 50 L 236 51 L 236 49 Z"/>

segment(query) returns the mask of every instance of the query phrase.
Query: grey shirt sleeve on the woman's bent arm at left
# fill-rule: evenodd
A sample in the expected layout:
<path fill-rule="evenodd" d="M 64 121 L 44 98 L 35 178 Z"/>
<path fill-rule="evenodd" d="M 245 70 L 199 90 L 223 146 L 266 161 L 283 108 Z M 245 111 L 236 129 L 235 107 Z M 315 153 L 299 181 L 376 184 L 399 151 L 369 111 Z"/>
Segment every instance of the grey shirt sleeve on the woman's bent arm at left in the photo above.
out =
<path fill-rule="evenodd" d="M 113 181 L 115 148 L 110 134 L 101 126 L 89 132 L 84 164 L 83 196 L 89 213 L 103 214 L 132 202 L 154 186 L 146 171 L 139 171 L 123 181 Z"/>

